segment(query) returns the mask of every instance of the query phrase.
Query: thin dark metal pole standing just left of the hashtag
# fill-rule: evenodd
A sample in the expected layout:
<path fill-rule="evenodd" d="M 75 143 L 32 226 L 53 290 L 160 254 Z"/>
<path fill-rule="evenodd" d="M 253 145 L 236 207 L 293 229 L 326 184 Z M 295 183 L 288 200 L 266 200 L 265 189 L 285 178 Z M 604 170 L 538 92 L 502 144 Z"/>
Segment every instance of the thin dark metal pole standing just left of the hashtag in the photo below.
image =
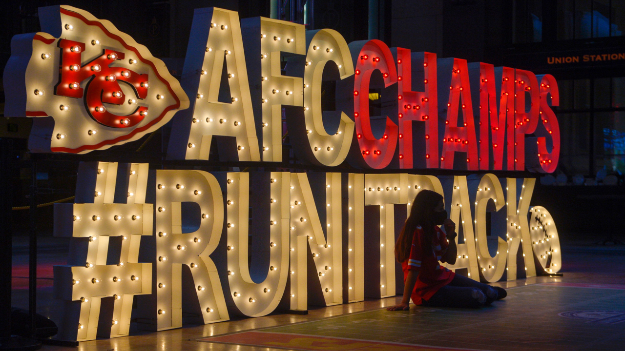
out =
<path fill-rule="evenodd" d="M 37 326 L 37 159 L 31 154 L 31 189 L 30 189 L 30 242 L 28 274 L 28 312 L 31 317 L 31 337 L 35 337 Z"/>

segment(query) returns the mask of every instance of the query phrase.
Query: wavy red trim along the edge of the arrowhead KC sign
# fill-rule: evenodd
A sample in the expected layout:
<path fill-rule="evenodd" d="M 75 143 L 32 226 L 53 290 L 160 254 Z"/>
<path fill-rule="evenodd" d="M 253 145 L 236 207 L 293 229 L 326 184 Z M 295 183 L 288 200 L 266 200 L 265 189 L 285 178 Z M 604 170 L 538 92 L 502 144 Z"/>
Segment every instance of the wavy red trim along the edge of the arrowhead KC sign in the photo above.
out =
<path fill-rule="evenodd" d="M 130 133 L 128 133 L 128 134 L 126 134 L 124 136 L 119 136 L 119 137 L 116 137 L 115 139 L 112 139 L 112 140 L 109 139 L 109 140 L 106 140 L 106 141 L 103 141 L 103 142 L 99 142 L 98 144 L 95 144 L 95 145 L 84 145 L 84 146 L 78 147 L 76 149 L 70 149 L 69 147 L 51 147 L 50 150 L 52 152 L 70 152 L 70 153 L 73 153 L 73 154 L 78 154 L 79 152 L 82 152 L 82 151 L 85 151 L 85 150 L 97 150 L 100 147 L 103 147 L 105 145 L 116 144 L 116 143 L 118 143 L 120 141 L 131 139 L 131 137 L 135 136 L 136 134 L 138 134 L 140 132 L 148 130 L 149 127 L 154 126 L 154 124 L 156 124 L 159 121 L 161 121 L 161 119 L 163 119 L 163 117 L 167 114 L 167 112 L 169 112 L 169 111 L 171 111 L 173 109 L 178 109 L 180 107 L 180 99 L 178 99 L 178 95 L 176 95 L 176 93 L 173 91 L 173 89 L 171 89 L 171 85 L 169 85 L 169 81 L 167 79 L 164 79 L 158 73 L 158 70 L 154 66 L 154 62 L 152 62 L 151 60 L 146 59 L 143 56 L 141 56 L 141 54 L 139 54 L 139 51 L 135 47 L 130 46 L 129 44 L 127 44 L 123 39 L 121 39 L 121 37 L 119 37 L 119 36 L 109 32 L 108 29 L 106 29 L 101 22 L 99 22 L 99 21 L 89 21 L 88 19 L 86 19 L 83 15 L 79 14 L 78 12 L 69 11 L 68 9 L 64 9 L 63 7 L 61 7 L 61 13 L 66 14 L 68 16 L 76 17 L 76 18 L 80 19 L 81 21 L 83 21 L 88 26 L 98 26 L 100 29 L 102 29 L 104 34 L 106 34 L 107 36 L 109 36 L 112 39 L 114 39 L 114 40 L 118 41 L 119 43 L 121 43 L 122 46 L 124 46 L 124 48 L 126 48 L 127 50 L 134 52 L 137 55 L 137 57 L 139 57 L 141 62 L 143 62 L 144 64 L 147 64 L 150 67 L 152 67 L 152 69 L 154 71 L 154 74 L 158 77 L 159 81 L 164 82 L 164 84 L 167 86 L 171 96 L 173 96 L 174 99 L 176 99 L 176 104 L 170 105 L 170 106 L 166 107 L 163 110 L 163 112 L 158 117 L 156 117 L 155 119 L 150 121 L 148 124 L 146 124 L 143 127 L 138 127 L 136 129 L 133 129 L 133 131 L 131 131 Z M 44 38 L 42 37 L 42 39 L 44 39 Z M 42 39 L 37 39 L 37 40 L 44 41 Z M 51 42 L 53 42 L 55 40 L 56 39 L 53 39 Z M 44 42 L 46 42 L 46 41 L 44 41 Z M 156 58 L 156 57 L 154 57 L 154 58 Z M 49 115 L 46 115 L 46 116 L 49 116 Z"/>

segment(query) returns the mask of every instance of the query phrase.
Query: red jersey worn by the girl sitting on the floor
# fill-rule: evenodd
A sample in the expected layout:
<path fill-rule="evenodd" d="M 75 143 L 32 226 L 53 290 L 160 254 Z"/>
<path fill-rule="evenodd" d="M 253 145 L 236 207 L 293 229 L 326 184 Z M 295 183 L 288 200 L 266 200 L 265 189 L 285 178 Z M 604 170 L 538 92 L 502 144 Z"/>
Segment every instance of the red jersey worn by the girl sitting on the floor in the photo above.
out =
<path fill-rule="evenodd" d="M 404 270 L 404 282 L 406 282 L 409 270 L 419 270 L 419 278 L 412 291 L 412 302 L 415 305 L 421 305 L 422 300 L 429 300 L 438 289 L 449 284 L 456 275 L 438 263 L 438 261 L 445 262 L 443 257 L 447 253 L 449 241 L 439 227 L 435 228 L 436 236 L 432 238 L 432 247 L 425 248 L 423 247 L 423 229 L 421 226 L 417 226 L 414 235 L 412 235 L 410 257 L 401 262 L 401 267 Z"/>

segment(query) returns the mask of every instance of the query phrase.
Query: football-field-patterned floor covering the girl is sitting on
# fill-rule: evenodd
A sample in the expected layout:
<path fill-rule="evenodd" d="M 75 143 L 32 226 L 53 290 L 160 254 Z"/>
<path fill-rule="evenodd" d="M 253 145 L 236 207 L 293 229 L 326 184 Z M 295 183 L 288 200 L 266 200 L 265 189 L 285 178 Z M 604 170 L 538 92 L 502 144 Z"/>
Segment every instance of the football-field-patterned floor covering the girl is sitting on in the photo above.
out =
<path fill-rule="evenodd" d="M 200 339 L 297 350 L 621 350 L 625 285 L 512 288 L 483 309 L 377 309 Z"/>

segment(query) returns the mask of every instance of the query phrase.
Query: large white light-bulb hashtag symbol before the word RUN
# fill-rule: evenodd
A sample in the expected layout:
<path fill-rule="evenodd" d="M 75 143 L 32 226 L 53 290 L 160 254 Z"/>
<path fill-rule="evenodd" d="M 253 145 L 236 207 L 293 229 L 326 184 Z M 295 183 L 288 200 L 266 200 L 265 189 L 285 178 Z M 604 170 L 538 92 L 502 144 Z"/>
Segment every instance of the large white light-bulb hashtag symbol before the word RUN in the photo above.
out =
<path fill-rule="evenodd" d="M 141 236 L 152 234 L 147 182 L 148 164 L 83 162 L 76 203 L 54 205 L 54 236 L 71 237 L 68 265 L 54 266 L 54 292 L 66 303 L 59 338 L 128 335 L 134 295 L 151 294 L 152 264 L 138 262 Z M 103 297 L 114 299 L 110 329 L 98 329 Z"/>

